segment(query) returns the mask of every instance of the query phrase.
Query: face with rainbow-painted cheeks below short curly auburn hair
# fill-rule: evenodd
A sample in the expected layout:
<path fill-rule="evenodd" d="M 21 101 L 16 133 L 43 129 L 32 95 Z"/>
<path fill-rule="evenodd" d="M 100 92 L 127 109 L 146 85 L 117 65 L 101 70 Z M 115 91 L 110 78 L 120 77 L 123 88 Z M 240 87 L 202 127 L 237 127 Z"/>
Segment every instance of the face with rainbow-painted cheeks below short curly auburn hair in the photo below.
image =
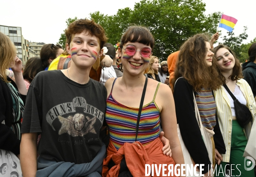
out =
<path fill-rule="evenodd" d="M 103 53 L 99 39 L 86 31 L 73 36 L 70 46 L 67 44 L 67 51 L 76 67 L 81 68 L 91 67 Z"/>

